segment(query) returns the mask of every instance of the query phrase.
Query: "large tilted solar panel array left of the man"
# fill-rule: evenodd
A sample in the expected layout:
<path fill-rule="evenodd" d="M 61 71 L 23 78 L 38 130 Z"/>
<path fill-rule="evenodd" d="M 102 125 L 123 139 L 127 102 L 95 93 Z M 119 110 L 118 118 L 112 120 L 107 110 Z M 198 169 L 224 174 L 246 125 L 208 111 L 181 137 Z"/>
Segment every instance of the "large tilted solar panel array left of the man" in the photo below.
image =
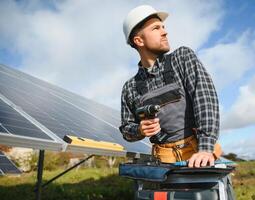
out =
<path fill-rule="evenodd" d="M 43 141 L 40 148 L 59 150 L 64 136 L 72 135 L 118 143 L 128 152 L 150 153 L 148 140 L 126 142 L 119 124 L 120 113 L 114 109 L 0 65 L 0 140 L 12 135 L 6 143 L 36 148 Z M 24 138 L 34 141 L 26 144 Z"/>

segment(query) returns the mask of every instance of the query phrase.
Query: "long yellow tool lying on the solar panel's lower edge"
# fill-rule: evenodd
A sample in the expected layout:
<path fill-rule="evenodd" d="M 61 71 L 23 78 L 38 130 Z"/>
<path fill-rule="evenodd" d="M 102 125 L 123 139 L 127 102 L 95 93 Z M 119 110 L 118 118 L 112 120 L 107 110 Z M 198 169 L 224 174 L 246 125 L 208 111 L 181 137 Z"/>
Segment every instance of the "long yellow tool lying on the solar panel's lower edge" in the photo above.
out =
<path fill-rule="evenodd" d="M 63 138 L 69 144 L 84 146 L 89 148 L 97 148 L 97 149 L 106 149 L 106 150 L 113 150 L 113 151 L 124 151 L 124 147 L 112 142 L 104 142 L 104 141 L 96 141 L 92 139 L 87 139 L 83 137 L 76 137 L 65 135 Z"/>

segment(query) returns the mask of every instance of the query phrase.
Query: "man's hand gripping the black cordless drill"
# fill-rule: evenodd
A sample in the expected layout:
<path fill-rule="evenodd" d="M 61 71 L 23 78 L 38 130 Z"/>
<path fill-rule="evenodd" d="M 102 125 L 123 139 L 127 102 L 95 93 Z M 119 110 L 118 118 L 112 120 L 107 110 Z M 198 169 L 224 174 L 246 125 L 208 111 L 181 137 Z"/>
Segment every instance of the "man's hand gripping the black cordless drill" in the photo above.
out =
<path fill-rule="evenodd" d="M 159 118 L 142 120 L 139 129 L 143 136 L 150 137 L 156 135 L 161 130 Z"/>

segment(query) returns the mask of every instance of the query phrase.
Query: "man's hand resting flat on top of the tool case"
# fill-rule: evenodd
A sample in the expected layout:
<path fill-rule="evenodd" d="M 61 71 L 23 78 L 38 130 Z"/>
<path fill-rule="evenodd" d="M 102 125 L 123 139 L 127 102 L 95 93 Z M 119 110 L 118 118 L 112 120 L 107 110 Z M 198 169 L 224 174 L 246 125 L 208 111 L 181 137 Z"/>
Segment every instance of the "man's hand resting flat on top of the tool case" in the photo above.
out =
<path fill-rule="evenodd" d="M 195 153 L 191 156 L 189 159 L 189 167 L 205 167 L 208 165 L 213 166 L 214 165 L 214 156 L 213 153 L 200 151 L 198 153 Z"/>

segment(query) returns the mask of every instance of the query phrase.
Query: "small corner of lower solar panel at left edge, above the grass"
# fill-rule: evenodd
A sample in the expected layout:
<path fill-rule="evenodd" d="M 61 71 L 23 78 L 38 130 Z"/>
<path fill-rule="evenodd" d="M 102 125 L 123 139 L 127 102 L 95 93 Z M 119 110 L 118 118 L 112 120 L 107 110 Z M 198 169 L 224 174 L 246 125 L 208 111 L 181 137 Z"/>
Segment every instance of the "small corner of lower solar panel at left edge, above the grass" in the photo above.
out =
<path fill-rule="evenodd" d="M 16 165 L 4 154 L 0 155 L 0 172 L 3 174 L 21 174 L 21 171 Z"/>

